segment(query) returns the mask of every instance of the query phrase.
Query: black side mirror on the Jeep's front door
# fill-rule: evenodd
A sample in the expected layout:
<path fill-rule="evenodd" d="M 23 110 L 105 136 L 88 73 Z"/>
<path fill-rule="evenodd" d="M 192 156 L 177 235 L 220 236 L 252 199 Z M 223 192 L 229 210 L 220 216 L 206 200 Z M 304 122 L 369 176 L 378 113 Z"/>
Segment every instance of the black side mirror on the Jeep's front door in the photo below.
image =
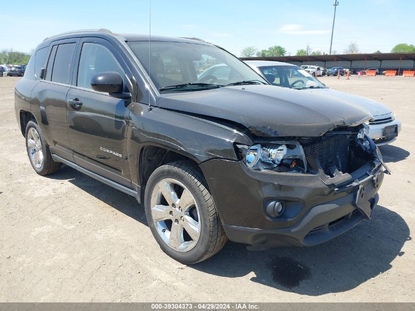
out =
<path fill-rule="evenodd" d="M 123 92 L 124 85 L 118 72 L 106 71 L 92 76 L 91 87 L 95 91 L 109 93 L 113 97 L 122 99 L 131 97 L 130 93 Z"/>

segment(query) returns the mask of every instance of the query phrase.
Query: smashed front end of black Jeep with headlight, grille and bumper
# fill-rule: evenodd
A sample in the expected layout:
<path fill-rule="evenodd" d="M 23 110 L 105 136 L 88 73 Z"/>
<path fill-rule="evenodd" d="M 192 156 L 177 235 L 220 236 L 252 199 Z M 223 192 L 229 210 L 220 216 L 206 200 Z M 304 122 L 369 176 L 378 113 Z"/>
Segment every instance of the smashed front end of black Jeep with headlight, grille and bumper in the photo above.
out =
<path fill-rule="evenodd" d="M 254 249 L 311 246 L 371 218 L 383 167 L 390 170 L 364 125 L 254 142 L 235 146 L 239 162 L 201 165 L 230 240 Z"/>

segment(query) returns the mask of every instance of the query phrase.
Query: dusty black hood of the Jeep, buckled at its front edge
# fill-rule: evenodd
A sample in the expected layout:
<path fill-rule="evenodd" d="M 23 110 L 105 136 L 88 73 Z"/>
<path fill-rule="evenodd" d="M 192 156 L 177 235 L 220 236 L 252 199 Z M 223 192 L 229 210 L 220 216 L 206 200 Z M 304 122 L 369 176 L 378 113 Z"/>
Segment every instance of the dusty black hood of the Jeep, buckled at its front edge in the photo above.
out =
<path fill-rule="evenodd" d="M 230 120 L 257 136 L 320 136 L 339 126 L 371 118 L 344 98 L 273 85 L 237 85 L 194 92 L 167 93 L 156 105 L 175 111 Z"/>

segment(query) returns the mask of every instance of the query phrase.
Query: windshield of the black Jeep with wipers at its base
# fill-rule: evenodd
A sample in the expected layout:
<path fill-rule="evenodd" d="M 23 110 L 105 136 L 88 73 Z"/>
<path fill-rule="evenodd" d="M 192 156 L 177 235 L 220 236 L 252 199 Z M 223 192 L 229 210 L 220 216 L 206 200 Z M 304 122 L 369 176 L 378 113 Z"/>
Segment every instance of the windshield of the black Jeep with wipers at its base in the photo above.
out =
<path fill-rule="evenodd" d="M 152 41 L 150 58 L 148 41 L 133 41 L 128 42 L 128 45 L 147 73 L 150 62 L 149 75 L 159 90 L 166 86 L 182 85 L 161 91 L 202 90 L 209 85 L 226 86 L 242 81 L 268 84 L 239 58 L 215 46 Z M 197 85 L 183 87 L 184 84 Z"/>

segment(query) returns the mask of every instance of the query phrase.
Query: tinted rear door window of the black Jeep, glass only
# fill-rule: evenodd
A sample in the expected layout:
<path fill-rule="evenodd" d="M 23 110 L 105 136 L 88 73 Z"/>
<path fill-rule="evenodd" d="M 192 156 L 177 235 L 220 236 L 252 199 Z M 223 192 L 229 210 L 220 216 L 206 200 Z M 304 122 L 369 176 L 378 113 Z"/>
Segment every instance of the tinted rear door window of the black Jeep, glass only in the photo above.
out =
<path fill-rule="evenodd" d="M 59 44 L 57 46 L 51 81 L 70 84 L 70 69 L 75 43 Z"/>

